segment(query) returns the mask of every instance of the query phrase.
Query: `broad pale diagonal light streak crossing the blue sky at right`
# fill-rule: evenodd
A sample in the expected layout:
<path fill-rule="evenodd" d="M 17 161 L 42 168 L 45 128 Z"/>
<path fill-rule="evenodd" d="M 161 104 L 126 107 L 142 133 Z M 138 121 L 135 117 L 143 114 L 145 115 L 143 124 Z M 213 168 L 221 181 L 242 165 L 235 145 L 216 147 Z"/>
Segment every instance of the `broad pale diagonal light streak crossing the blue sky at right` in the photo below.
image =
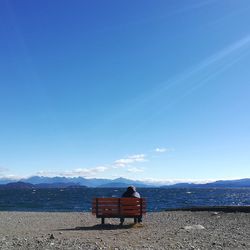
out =
<path fill-rule="evenodd" d="M 242 58 L 249 56 L 249 52 L 250 35 L 247 35 L 165 82 L 155 84 L 155 89 L 142 93 L 140 97 L 127 105 L 131 107 L 130 109 L 127 108 L 127 113 L 130 115 L 131 112 L 138 112 L 141 109 L 154 111 L 141 119 L 136 129 L 140 129 L 144 123 L 153 120 L 154 117 L 159 116 L 197 89 L 211 82 L 212 79 L 228 70 Z M 173 92 L 178 94 L 173 95 Z M 162 105 L 163 100 L 164 105 Z"/>

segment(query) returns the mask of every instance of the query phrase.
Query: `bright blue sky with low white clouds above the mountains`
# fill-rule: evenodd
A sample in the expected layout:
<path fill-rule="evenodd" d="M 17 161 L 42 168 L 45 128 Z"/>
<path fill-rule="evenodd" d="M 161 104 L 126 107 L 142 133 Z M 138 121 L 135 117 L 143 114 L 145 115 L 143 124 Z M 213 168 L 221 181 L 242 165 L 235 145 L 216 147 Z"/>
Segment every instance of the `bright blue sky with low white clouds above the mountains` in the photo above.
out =
<path fill-rule="evenodd" d="M 0 177 L 250 177 L 249 0 L 1 0 Z"/>

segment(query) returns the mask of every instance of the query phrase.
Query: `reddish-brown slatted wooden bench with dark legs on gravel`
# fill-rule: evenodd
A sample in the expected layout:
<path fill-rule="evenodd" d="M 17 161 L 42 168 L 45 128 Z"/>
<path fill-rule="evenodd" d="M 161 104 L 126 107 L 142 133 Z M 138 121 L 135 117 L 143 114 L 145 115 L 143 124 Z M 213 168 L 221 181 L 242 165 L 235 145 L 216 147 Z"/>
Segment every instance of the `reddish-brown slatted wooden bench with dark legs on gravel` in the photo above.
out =
<path fill-rule="evenodd" d="M 102 224 L 105 218 L 134 218 L 136 223 L 146 214 L 146 201 L 144 198 L 95 198 L 92 214 L 101 218 Z"/>

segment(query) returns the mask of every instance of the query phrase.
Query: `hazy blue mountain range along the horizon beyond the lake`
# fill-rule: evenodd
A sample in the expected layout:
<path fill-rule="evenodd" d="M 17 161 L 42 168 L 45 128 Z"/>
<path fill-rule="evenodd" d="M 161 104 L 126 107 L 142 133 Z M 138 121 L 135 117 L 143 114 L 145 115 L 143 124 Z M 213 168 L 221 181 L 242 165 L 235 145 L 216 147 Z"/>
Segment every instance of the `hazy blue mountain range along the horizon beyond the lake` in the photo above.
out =
<path fill-rule="evenodd" d="M 136 187 L 161 187 L 161 188 L 250 188 L 250 178 L 239 180 L 219 180 L 205 184 L 195 183 L 176 183 L 173 185 L 150 184 L 143 181 L 135 181 L 125 178 L 111 179 L 86 179 L 83 177 L 44 177 L 32 176 L 20 180 L 0 179 L 0 188 L 65 188 L 65 187 L 127 187 L 134 185 Z"/>

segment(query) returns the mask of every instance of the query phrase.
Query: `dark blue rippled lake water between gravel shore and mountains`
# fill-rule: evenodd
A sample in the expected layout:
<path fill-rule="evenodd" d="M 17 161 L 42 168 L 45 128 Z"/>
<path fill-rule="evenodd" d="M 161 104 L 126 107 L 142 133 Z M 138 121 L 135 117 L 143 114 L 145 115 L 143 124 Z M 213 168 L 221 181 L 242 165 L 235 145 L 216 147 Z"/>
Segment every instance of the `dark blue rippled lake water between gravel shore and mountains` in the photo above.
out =
<path fill-rule="evenodd" d="M 0 211 L 90 211 L 94 197 L 120 197 L 124 188 L 0 190 Z M 138 188 L 147 211 L 191 206 L 250 205 L 250 188 Z"/>

